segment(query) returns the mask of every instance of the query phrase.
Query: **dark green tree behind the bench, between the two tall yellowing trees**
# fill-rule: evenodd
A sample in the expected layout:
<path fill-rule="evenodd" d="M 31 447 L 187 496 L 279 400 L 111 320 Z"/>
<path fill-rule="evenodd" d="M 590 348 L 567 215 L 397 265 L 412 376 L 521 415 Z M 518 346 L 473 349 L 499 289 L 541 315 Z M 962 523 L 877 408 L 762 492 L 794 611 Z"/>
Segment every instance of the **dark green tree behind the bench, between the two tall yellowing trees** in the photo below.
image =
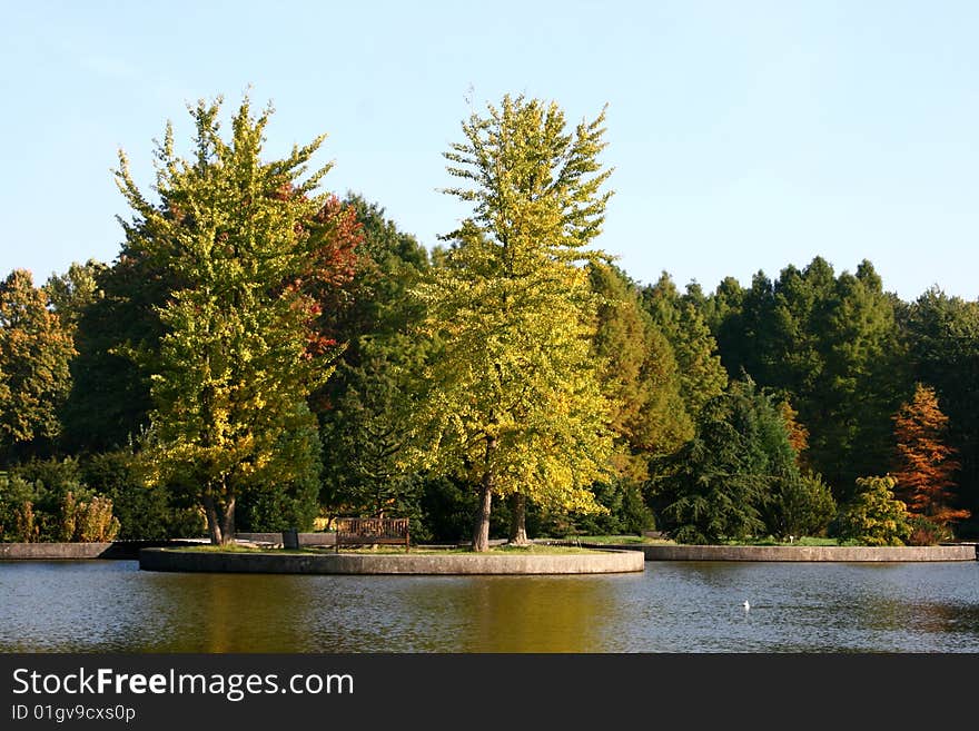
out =
<path fill-rule="evenodd" d="M 428 343 L 408 335 L 422 313 L 407 292 L 425 275 L 427 254 L 383 208 L 359 196 L 347 202 L 364 240 L 335 323 L 349 345 L 315 399 L 326 455 L 323 504 L 332 514 L 414 516 L 422 481 L 400 462 Z"/>

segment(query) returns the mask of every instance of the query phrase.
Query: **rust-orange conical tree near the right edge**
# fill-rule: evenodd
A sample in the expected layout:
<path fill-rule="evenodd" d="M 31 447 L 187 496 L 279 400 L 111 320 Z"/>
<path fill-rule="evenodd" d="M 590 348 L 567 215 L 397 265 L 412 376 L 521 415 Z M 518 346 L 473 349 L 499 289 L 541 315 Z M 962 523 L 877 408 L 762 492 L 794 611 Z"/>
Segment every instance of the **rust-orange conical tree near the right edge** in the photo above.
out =
<path fill-rule="evenodd" d="M 918 384 L 914 396 L 894 415 L 898 496 L 908 510 L 937 525 L 969 517 L 951 507 L 952 475 L 959 468 L 955 448 L 945 443 L 948 416 L 938 407 L 934 389 Z"/>

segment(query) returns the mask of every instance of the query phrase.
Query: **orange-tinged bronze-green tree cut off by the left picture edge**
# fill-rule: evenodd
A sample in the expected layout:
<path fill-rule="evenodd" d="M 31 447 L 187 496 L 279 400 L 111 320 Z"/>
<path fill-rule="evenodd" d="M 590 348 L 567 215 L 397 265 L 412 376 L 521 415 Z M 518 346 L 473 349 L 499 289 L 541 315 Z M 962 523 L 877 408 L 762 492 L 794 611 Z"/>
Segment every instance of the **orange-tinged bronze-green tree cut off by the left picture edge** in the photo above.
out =
<path fill-rule="evenodd" d="M 71 333 L 30 271 L 0 281 L 0 455 L 32 456 L 60 431 L 70 389 Z"/>

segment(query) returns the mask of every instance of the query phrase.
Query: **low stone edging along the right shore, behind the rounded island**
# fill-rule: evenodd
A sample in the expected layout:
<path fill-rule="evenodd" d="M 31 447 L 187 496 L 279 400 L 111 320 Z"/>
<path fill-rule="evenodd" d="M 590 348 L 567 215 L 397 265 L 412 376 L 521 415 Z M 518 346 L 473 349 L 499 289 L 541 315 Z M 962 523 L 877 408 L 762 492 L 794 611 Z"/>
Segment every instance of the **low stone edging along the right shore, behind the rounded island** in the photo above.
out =
<path fill-rule="evenodd" d="M 976 561 L 979 546 L 615 545 L 642 551 L 646 561 Z"/>

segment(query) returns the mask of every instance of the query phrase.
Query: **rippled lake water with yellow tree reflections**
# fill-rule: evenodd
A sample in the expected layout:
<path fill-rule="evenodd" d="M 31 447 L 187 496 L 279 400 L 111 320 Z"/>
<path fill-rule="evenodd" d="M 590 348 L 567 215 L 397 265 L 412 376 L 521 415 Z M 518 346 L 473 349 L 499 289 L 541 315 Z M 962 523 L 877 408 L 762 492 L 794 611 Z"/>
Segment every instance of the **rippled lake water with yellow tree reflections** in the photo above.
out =
<path fill-rule="evenodd" d="M 0 562 L 0 651 L 971 653 L 979 562 L 647 562 L 553 577 Z"/>

